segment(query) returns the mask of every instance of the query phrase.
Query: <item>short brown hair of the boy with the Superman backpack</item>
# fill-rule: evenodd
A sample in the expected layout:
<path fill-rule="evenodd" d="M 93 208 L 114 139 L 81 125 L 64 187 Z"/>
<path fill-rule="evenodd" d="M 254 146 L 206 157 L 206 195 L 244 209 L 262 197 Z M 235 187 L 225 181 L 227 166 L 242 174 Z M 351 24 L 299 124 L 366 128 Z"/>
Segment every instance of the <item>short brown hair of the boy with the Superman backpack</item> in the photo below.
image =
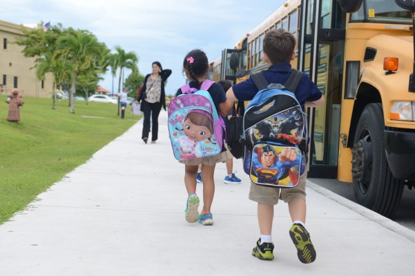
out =
<path fill-rule="evenodd" d="M 264 37 L 264 54 L 271 63 L 290 62 L 296 48 L 296 38 L 284 29 L 270 30 Z"/>

